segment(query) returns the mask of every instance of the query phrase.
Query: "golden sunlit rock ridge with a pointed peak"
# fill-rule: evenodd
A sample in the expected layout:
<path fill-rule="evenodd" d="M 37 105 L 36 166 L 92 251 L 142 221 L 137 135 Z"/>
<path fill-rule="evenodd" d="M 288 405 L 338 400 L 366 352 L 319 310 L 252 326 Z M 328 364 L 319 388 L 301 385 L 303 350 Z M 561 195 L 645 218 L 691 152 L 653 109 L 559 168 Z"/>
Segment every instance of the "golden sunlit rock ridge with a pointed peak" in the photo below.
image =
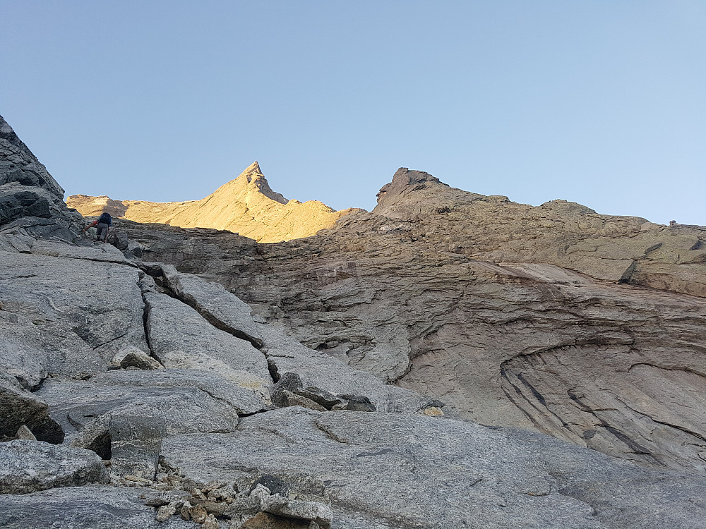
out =
<path fill-rule="evenodd" d="M 145 202 L 72 195 L 66 203 L 85 216 L 108 212 L 113 217 L 142 223 L 228 230 L 261 243 L 314 235 L 333 227 L 337 219 L 353 211 L 337 212 L 318 200 L 287 200 L 270 189 L 258 162 L 201 200 Z"/>

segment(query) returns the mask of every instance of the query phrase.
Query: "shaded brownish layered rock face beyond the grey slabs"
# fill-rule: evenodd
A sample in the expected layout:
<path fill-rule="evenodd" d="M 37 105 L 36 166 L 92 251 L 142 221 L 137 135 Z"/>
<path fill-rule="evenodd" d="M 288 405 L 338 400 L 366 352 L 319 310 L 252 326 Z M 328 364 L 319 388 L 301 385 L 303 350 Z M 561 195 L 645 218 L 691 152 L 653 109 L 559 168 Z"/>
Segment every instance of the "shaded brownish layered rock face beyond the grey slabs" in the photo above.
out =
<path fill-rule="evenodd" d="M 316 238 L 237 252 L 225 233 L 169 233 L 181 250 L 162 253 L 154 231 L 126 230 L 150 259 L 466 418 L 704 469 L 706 229 L 520 205 L 406 169 L 378 200 Z"/>

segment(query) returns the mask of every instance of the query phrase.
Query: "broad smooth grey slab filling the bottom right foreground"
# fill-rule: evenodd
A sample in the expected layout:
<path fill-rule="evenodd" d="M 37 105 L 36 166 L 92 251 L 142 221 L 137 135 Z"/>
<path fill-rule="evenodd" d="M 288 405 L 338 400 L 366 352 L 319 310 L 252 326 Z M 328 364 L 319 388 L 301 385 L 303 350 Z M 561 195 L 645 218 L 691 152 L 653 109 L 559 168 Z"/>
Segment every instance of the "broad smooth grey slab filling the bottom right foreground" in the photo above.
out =
<path fill-rule="evenodd" d="M 245 418 L 237 434 L 181 435 L 162 450 L 203 480 L 242 480 L 241 469 L 325 476 L 339 528 L 697 529 L 706 512 L 702 476 L 413 414 L 282 408 Z"/>

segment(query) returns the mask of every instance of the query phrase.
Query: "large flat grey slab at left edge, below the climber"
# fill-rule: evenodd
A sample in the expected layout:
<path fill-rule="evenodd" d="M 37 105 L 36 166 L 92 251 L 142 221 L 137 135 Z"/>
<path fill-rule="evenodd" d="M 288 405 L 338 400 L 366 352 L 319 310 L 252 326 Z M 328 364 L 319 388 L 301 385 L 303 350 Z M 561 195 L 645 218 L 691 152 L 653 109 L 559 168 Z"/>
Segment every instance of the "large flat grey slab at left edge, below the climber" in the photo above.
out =
<path fill-rule="evenodd" d="M 56 254 L 0 252 L 0 300 L 4 312 L 18 315 L 20 331 L 14 341 L 0 332 L 0 344 L 21 340 L 44 370 L 76 377 L 107 370 L 124 346 L 148 350 L 138 270 Z"/>

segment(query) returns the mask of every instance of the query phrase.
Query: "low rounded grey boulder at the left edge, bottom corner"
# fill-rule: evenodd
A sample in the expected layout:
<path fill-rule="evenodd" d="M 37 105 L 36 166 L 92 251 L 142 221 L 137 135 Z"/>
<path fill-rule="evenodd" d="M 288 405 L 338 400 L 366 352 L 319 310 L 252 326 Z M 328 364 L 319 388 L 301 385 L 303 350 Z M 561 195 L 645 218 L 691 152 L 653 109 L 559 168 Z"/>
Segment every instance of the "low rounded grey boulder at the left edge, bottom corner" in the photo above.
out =
<path fill-rule="evenodd" d="M 0 494 L 107 481 L 103 462 L 91 451 L 40 441 L 0 443 Z"/>

